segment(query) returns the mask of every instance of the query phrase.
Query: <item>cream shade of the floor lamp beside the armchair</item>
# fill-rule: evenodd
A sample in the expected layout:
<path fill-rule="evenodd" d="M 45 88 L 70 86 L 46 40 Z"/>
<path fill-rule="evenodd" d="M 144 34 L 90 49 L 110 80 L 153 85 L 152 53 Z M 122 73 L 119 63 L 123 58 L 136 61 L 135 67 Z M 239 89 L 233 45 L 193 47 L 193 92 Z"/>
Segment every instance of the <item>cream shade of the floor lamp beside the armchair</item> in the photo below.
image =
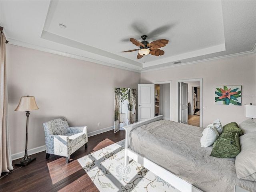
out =
<path fill-rule="evenodd" d="M 32 111 L 39 109 L 36 105 L 35 97 L 26 96 L 20 98 L 20 103 L 14 111 Z"/>

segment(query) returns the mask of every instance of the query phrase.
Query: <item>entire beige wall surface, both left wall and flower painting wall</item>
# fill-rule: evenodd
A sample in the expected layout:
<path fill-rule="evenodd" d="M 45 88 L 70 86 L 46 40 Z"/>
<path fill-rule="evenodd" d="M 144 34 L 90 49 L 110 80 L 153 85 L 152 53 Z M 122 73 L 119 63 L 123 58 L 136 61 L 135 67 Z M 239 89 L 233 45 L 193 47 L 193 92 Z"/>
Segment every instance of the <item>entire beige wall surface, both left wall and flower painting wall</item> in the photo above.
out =
<path fill-rule="evenodd" d="M 42 123 L 53 118 L 65 116 L 70 126 L 86 125 L 91 134 L 112 128 L 114 87 L 137 89 L 139 83 L 172 81 L 172 120 L 176 120 L 176 81 L 203 78 L 204 127 L 217 118 L 222 124 L 246 119 L 243 106 L 214 103 L 216 85 L 242 85 L 242 105 L 256 104 L 256 54 L 140 74 L 10 44 L 6 52 L 11 150 L 19 157 L 24 156 L 26 114 L 14 109 L 21 96 L 35 96 L 40 108 L 30 112 L 29 152 L 42 150 Z"/>

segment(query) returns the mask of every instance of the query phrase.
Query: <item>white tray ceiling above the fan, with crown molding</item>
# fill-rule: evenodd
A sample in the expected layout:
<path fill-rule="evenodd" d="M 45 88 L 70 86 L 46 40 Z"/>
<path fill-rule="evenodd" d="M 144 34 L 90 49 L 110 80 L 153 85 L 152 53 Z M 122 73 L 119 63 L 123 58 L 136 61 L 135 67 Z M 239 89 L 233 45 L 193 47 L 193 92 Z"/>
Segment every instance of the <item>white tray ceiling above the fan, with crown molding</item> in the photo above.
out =
<path fill-rule="evenodd" d="M 0 0 L 0 24 L 9 44 L 137 72 L 256 52 L 255 0 Z M 142 35 L 165 54 L 121 53 Z"/>

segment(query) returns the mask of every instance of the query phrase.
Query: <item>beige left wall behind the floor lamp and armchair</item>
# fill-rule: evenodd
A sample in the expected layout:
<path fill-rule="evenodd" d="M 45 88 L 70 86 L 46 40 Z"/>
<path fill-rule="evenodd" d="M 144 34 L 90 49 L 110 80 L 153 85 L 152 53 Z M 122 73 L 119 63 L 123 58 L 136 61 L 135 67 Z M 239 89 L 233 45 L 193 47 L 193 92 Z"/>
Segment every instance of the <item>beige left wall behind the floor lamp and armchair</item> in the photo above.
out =
<path fill-rule="evenodd" d="M 44 146 L 43 122 L 66 117 L 70 126 L 97 133 L 114 125 L 114 87 L 136 88 L 140 73 L 6 45 L 8 109 L 12 154 L 24 156 L 26 112 L 16 112 L 21 96 L 35 96 L 28 150 Z M 101 123 L 98 126 L 98 122 Z M 114 131 L 114 130 L 113 130 Z"/>

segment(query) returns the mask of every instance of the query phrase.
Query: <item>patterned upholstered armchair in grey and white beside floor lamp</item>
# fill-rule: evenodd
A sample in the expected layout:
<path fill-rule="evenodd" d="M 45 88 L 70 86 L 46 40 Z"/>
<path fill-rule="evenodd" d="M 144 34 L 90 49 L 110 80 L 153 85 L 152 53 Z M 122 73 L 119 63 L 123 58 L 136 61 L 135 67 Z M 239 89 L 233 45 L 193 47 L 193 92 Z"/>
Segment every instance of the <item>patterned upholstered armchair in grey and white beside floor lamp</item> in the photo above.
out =
<path fill-rule="evenodd" d="M 43 123 L 45 133 L 46 159 L 50 154 L 66 157 L 66 163 L 70 155 L 83 145 L 87 148 L 87 127 L 70 127 L 66 118 L 58 118 Z"/>

